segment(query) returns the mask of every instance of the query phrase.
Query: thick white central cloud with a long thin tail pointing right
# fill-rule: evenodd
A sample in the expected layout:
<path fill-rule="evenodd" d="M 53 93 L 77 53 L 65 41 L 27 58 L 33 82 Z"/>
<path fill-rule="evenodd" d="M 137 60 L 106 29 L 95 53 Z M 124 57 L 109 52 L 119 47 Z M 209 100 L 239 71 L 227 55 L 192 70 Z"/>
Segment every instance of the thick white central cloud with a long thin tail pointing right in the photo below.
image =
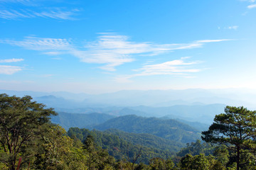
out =
<path fill-rule="evenodd" d="M 152 42 L 132 42 L 125 35 L 102 33 L 96 41 L 88 42 L 85 50 L 73 50 L 71 53 L 81 62 L 106 64 L 101 69 L 114 71 L 114 67 L 133 62 L 132 55 L 159 55 L 174 50 L 202 47 L 207 42 L 225 40 L 198 40 L 188 44 L 154 44 Z"/>

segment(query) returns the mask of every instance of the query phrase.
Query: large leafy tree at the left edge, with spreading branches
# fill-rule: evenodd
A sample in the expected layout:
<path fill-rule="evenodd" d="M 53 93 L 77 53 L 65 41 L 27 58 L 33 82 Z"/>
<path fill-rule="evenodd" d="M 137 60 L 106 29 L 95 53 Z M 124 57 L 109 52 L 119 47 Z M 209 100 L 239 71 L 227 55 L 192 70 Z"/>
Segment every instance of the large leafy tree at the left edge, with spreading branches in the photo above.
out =
<path fill-rule="evenodd" d="M 50 115 L 57 115 L 53 108 L 31 100 L 31 96 L 0 94 L 0 145 L 4 150 L 1 162 L 11 170 L 18 157 L 26 161 L 36 154 L 29 148 L 36 146 L 42 130 L 50 123 Z"/>

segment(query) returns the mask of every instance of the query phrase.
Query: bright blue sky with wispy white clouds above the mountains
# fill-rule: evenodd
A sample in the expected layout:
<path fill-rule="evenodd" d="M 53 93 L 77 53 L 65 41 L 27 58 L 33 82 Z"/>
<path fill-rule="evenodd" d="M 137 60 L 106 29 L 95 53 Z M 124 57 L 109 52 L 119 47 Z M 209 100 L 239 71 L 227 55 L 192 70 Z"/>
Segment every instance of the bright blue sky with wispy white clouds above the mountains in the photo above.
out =
<path fill-rule="evenodd" d="M 0 0 L 0 89 L 256 90 L 255 0 Z"/>

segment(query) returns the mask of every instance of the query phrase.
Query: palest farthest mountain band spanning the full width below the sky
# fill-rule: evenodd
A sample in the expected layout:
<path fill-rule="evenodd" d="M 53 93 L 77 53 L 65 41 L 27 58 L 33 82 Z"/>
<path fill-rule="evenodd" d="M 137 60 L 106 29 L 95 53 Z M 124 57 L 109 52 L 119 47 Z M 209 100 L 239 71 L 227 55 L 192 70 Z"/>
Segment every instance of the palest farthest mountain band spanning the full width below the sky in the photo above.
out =
<path fill-rule="evenodd" d="M 35 92 L 35 91 L 6 91 L 0 93 L 9 95 L 24 96 L 30 95 L 33 98 L 41 96 L 55 96 L 72 101 L 72 104 L 65 106 L 59 100 L 58 106 L 65 108 L 103 108 L 110 106 L 134 107 L 134 106 L 153 106 L 169 107 L 176 105 L 193 106 L 223 103 L 229 106 L 245 106 L 253 109 L 256 106 L 256 94 L 252 91 L 241 89 L 185 89 L 185 90 L 124 90 L 108 94 L 73 94 L 65 91 L 58 92 Z M 47 103 L 47 101 L 45 101 Z M 56 108 L 56 107 L 55 107 Z"/>

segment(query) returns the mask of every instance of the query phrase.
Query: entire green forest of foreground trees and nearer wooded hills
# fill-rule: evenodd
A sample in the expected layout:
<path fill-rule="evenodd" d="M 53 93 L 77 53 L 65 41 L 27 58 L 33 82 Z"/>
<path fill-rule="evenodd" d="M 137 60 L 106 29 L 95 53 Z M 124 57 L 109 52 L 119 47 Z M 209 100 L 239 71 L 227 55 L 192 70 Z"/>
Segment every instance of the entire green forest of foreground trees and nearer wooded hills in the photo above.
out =
<path fill-rule="evenodd" d="M 256 111 L 224 112 L 203 132 L 135 115 L 66 131 L 53 108 L 0 94 L 0 169 L 256 169 Z"/>

